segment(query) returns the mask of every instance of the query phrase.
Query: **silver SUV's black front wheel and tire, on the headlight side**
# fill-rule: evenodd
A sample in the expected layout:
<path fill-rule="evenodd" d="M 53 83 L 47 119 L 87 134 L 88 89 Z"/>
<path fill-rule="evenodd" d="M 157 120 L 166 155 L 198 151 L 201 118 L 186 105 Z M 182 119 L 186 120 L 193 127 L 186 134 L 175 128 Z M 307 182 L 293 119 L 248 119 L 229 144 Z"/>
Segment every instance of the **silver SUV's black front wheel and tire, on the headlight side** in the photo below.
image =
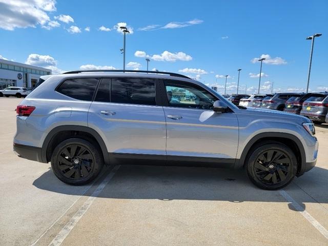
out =
<path fill-rule="evenodd" d="M 289 185 L 295 177 L 297 159 L 289 147 L 280 142 L 267 141 L 252 148 L 246 169 L 249 178 L 257 187 L 278 190 Z"/>

